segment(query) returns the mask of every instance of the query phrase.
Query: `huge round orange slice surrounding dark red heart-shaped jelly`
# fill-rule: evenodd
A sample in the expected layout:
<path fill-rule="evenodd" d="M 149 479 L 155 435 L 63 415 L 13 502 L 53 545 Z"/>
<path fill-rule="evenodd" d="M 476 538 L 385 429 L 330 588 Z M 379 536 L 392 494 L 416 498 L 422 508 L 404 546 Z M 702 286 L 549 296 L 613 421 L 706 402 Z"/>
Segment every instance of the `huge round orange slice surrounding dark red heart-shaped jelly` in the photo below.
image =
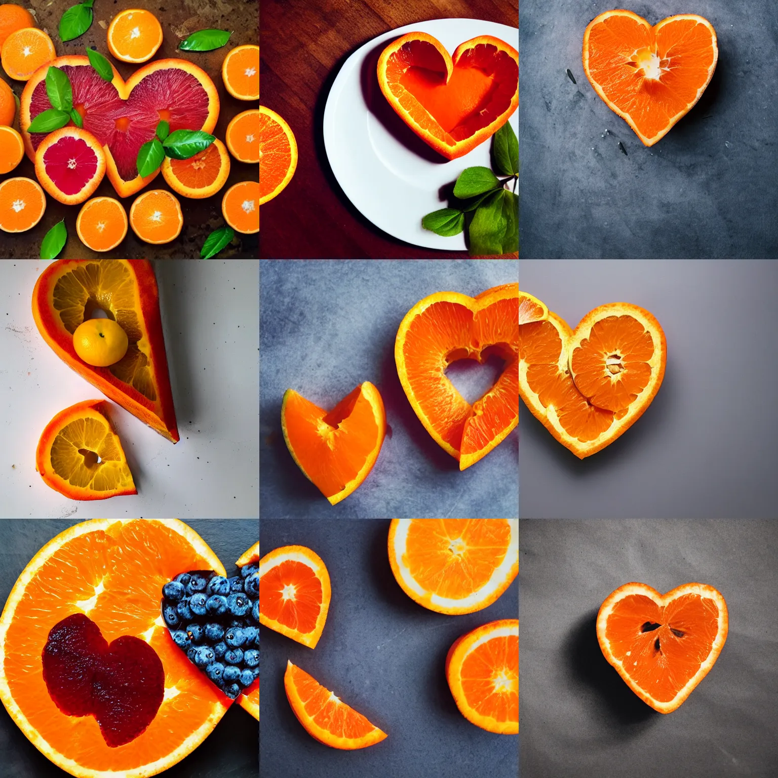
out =
<path fill-rule="evenodd" d="M 159 618 L 159 593 L 180 569 L 214 569 L 219 559 L 176 520 L 97 519 L 76 524 L 37 553 L 0 618 L 0 699 L 27 738 L 81 778 L 148 778 L 189 754 L 226 711 L 224 696 L 180 652 Z M 86 615 L 104 640 L 143 640 L 164 669 L 164 694 L 149 726 L 119 748 L 92 716 L 62 713 L 47 690 L 41 654 L 51 629 Z"/>

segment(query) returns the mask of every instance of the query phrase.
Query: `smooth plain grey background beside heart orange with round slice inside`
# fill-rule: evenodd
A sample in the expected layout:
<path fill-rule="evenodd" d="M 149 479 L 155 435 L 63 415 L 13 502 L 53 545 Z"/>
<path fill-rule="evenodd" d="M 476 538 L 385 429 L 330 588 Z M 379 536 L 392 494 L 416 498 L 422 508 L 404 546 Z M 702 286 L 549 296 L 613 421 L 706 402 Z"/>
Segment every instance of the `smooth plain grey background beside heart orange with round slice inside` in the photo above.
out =
<path fill-rule="evenodd" d="M 520 284 L 573 328 L 635 303 L 668 340 L 652 404 L 583 461 L 520 405 L 521 517 L 775 516 L 778 263 L 522 260 Z"/>

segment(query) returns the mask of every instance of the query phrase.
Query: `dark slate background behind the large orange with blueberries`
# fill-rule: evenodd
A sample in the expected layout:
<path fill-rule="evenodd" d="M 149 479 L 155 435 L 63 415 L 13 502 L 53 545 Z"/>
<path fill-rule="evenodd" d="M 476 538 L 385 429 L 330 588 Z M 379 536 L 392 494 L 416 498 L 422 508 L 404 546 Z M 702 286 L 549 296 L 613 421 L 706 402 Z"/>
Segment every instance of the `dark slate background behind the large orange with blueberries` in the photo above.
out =
<path fill-rule="evenodd" d="M 27 562 L 51 538 L 78 521 L 65 519 L 0 520 L 0 601 L 5 604 Z M 200 519 L 187 522 L 202 536 L 229 571 L 257 542 L 257 520 Z M 183 572 L 183 571 L 182 571 Z M 230 706 L 216 728 L 195 751 L 160 775 L 166 778 L 254 778 L 259 769 L 257 722 L 237 705 Z M 0 775 L 2 778 L 66 778 L 24 736 L 0 705 Z"/>

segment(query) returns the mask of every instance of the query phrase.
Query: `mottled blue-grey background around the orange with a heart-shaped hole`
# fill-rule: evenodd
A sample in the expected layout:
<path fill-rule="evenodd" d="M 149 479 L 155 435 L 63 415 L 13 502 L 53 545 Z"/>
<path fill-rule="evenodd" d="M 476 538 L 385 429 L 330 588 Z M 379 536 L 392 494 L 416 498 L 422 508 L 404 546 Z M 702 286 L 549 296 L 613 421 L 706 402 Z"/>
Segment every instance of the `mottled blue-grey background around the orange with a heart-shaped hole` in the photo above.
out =
<path fill-rule="evenodd" d="M 470 468 L 433 440 L 405 396 L 394 363 L 402 318 L 429 294 L 475 296 L 516 282 L 516 260 L 266 260 L 260 265 L 260 503 L 273 518 L 518 515 L 518 435 Z M 448 373 L 464 398 L 492 386 L 499 367 L 473 360 Z M 334 408 L 363 381 L 378 387 L 387 436 L 370 475 L 331 506 L 284 443 L 281 401 L 292 388 Z"/>

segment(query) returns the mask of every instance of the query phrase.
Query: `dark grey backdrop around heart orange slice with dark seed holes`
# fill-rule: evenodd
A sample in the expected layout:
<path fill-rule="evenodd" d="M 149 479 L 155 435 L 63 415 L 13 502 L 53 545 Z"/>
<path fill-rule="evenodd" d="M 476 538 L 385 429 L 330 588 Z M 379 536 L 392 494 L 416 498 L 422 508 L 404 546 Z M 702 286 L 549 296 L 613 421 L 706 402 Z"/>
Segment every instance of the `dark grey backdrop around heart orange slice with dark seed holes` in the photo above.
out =
<path fill-rule="evenodd" d="M 778 769 L 778 522 L 529 520 L 521 534 L 524 778 L 770 778 Z M 727 601 L 729 634 L 673 713 L 605 661 L 595 623 L 616 588 L 699 582 Z"/>

